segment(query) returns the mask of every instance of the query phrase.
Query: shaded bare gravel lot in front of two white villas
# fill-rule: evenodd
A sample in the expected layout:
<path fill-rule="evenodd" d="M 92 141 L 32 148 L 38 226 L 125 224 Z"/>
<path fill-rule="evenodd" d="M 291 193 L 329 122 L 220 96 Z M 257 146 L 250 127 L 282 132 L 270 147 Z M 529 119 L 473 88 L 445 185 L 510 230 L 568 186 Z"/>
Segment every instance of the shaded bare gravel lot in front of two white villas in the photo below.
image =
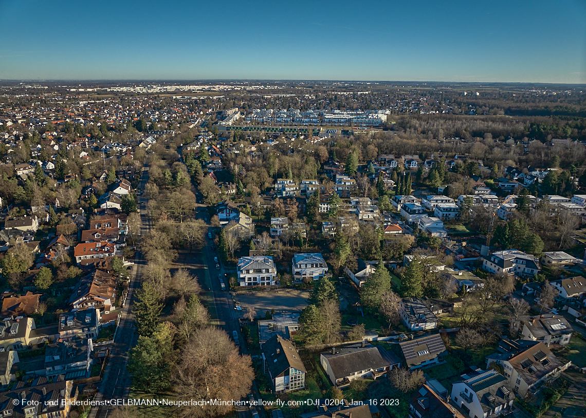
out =
<path fill-rule="evenodd" d="M 253 306 L 258 317 L 264 317 L 265 312 L 271 309 L 275 313 L 288 313 L 300 311 L 307 306 L 309 292 L 297 289 L 267 290 L 266 292 L 243 292 L 234 295 L 234 300 L 240 302 L 240 306 Z"/>

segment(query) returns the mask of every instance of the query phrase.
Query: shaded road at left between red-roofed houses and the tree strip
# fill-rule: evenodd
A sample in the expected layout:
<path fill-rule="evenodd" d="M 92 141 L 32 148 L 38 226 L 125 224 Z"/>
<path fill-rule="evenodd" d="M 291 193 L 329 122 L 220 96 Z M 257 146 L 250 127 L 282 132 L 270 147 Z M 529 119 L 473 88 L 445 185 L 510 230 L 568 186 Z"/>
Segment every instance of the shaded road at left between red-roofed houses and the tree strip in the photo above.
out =
<path fill-rule="evenodd" d="M 148 167 L 145 165 L 138 187 L 144 187 L 147 181 Z M 148 234 L 152 228 L 152 220 L 145 210 L 147 200 L 146 197 L 138 197 L 138 203 L 143 204 L 139 205 L 142 221 L 141 235 L 143 236 Z M 130 282 L 126 303 L 121 311 L 121 320 L 118 325 L 114 345 L 111 348 L 110 361 L 105 368 L 103 379 L 98 387 L 96 400 L 128 398 L 128 394 L 130 393 L 132 379 L 126 368 L 129 358 L 128 352 L 134 347 L 138 339 L 138 334 L 135 332 L 134 319 L 132 318 L 131 306 L 136 300 L 135 290 L 139 287 L 145 265 L 146 262 L 142 258 L 142 254 L 137 252 L 133 270 L 134 276 L 132 276 Z M 90 412 L 89 418 L 107 418 L 112 409 L 113 407 L 110 406 L 94 407 Z"/>

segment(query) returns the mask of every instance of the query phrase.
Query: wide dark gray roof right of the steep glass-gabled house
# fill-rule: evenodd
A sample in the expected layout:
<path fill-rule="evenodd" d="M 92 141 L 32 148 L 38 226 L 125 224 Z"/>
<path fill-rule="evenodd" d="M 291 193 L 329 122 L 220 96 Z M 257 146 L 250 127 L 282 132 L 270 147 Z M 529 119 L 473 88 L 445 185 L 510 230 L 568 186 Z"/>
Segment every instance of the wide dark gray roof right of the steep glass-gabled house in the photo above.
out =
<path fill-rule="evenodd" d="M 336 347 L 335 354 L 332 354 L 332 350 L 322 352 L 321 355 L 328 360 L 336 379 L 346 378 L 353 372 L 395 364 L 383 358 L 378 348 L 372 344 L 364 344 L 364 347 L 360 343 Z"/>

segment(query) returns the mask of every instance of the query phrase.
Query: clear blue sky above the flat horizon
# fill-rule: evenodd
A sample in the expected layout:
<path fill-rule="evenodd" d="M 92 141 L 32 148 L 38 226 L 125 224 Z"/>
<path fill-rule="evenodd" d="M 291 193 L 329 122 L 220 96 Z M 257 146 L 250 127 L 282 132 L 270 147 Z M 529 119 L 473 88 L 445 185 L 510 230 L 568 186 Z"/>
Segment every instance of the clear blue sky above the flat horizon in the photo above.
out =
<path fill-rule="evenodd" d="M 586 83 L 586 2 L 0 0 L 0 79 Z"/>

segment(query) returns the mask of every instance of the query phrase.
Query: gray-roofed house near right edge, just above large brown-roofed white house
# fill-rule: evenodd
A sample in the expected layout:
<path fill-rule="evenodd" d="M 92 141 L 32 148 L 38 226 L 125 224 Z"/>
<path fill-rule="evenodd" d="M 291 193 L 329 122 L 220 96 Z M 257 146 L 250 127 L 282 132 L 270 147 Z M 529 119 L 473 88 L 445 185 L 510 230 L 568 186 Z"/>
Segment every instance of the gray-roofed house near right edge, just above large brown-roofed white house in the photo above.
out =
<path fill-rule="evenodd" d="M 563 316 L 543 314 L 531 317 L 523 324 L 523 340 L 541 341 L 543 344 L 570 344 L 574 328 Z"/>

